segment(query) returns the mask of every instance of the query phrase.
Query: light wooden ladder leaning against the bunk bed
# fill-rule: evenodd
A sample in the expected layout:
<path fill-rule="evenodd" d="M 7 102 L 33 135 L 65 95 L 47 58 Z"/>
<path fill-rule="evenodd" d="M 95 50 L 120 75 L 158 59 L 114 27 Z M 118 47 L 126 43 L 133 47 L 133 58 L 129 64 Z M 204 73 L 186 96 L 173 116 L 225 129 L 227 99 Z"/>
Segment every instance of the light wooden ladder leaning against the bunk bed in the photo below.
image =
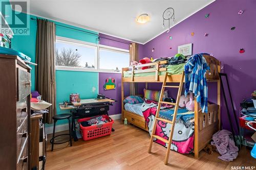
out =
<path fill-rule="evenodd" d="M 151 139 L 150 139 L 150 147 L 148 148 L 148 153 L 150 153 L 151 149 L 152 149 L 152 144 L 153 144 L 153 139 L 154 138 L 157 138 L 157 139 L 167 143 L 168 147 L 167 147 L 167 151 L 166 151 L 166 155 L 165 155 L 164 164 L 168 163 L 168 158 L 169 158 L 169 153 L 170 153 L 170 145 L 171 145 L 172 139 L 173 139 L 175 120 L 176 120 L 176 116 L 177 116 L 177 111 L 178 111 L 179 102 L 180 102 L 180 95 L 181 95 L 183 81 L 184 81 L 184 72 L 182 73 L 179 86 L 166 86 L 167 77 L 168 77 L 168 74 L 166 73 L 165 77 L 164 77 L 162 89 L 161 89 L 160 99 L 159 99 L 158 106 L 157 106 L 157 112 L 156 112 L 154 128 L 153 128 Z M 167 87 L 167 88 L 179 88 L 176 103 L 170 103 L 170 102 L 163 102 L 162 101 L 165 87 Z M 159 117 L 159 112 L 160 112 L 161 104 L 169 104 L 169 105 L 174 105 L 175 106 L 174 116 L 173 116 L 173 120 L 172 121 Z M 160 136 L 155 134 L 158 120 L 160 120 L 162 122 L 166 122 L 166 123 L 172 124 L 172 127 L 170 128 L 170 136 L 169 136 L 168 140 L 166 140 L 166 139 L 164 139 L 164 138 L 162 138 L 162 137 L 160 137 Z"/>

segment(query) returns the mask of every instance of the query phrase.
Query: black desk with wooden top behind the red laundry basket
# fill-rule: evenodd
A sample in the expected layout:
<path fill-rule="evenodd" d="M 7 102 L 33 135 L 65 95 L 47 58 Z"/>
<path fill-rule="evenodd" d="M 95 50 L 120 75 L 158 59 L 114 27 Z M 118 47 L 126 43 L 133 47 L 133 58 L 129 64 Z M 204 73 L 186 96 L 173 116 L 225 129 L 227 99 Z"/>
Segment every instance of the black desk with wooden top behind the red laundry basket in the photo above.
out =
<path fill-rule="evenodd" d="M 113 106 L 112 103 L 116 102 L 113 99 L 83 99 L 81 102 L 72 102 L 71 105 L 64 106 L 63 103 L 59 104 L 60 110 L 71 110 L 72 113 L 72 136 L 74 141 L 77 141 L 75 119 L 92 117 L 97 115 L 106 114 L 109 115 L 109 106 Z M 112 131 L 115 131 L 112 128 Z"/>

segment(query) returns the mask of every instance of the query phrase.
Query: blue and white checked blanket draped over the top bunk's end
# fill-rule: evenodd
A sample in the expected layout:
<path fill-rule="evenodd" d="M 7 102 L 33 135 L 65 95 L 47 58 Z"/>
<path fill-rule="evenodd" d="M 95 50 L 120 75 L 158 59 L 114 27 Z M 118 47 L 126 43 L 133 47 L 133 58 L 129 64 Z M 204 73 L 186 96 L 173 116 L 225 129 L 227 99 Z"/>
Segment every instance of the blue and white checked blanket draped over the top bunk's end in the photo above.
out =
<path fill-rule="evenodd" d="M 185 68 L 185 95 L 193 93 L 197 96 L 197 102 L 200 104 L 203 113 L 208 112 L 207 96 L 208 88 L 206 82 L 206 71 L 209 66 L 203 54 L 195 54 L 188 59 Z"/>

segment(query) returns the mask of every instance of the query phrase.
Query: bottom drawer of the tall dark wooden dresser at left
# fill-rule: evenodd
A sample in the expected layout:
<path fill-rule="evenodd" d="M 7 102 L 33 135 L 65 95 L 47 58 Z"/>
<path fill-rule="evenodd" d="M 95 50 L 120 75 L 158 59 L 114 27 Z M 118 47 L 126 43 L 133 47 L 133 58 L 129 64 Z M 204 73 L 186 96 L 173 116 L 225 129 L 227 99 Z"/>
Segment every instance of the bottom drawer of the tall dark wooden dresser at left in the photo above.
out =
<path fill-rule="evenodd" d="M 29 152 L 28 152 L 28 137 L 27 137 L 23 145 L 22 152 L 19 155 L 17 155 L 18 159 L 17 159 L 16 169 L 22 169 L 22 170 L 28 169 L 28 155 L 29 155 Z"/>

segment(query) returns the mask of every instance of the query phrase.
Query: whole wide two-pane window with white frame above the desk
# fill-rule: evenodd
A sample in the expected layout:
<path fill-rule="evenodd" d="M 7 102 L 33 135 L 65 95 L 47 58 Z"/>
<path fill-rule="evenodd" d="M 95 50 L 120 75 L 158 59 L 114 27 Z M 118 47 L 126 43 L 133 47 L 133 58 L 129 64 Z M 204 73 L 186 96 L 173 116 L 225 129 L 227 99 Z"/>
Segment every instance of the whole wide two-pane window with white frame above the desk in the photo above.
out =
<path fill-rule="evenodd" d="M 56 69 L 113 72 L 129 67 L 128 50 L 56 37 Z"/>

